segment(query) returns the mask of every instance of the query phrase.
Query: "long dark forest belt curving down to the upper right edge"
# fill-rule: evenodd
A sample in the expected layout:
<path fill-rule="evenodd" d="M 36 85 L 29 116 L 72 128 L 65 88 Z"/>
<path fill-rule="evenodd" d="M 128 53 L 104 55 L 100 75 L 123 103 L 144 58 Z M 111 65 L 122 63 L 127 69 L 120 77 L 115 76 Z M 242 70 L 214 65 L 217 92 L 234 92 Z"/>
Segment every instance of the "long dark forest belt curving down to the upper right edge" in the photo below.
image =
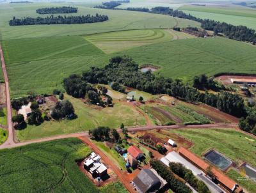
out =
<path fill-rule="evenodd" d="M 148 8 L 120 9 L 120 8 L 116 8 L 116 6 L 120 5 L 121 3 L 114 6 L 115 4 L 114 2 L 115 1 L 106 2 L 109 4 L 113 4 L 113 6 L 109 6 L 109 9 L 156 13 L 156 14 L 170 15 L 172 17 L 179 17 L 183 19 L 195 20 L 196 22 L 201 23 L 201 27 L 203 29 L 214 31 L 214 34 L 216 35 L 221 34 L 233 40 L 246 41 L 246 42 L 251 42 L 253 44 L 256 44 L 255 30 L 250 29 L 246 26 L 234 26 L 232 24 L 227 24 L 226 22 L 218 22 L 210 19 L 200 19 L 200 18 L 194 17 L 193 15 L 184 13 L 182 11 L 173 10 L 163 6 L 154 7 L 154 8 L 151 8 L 151 10 L 149 10 Z M 108 6 L 104 6 L 104 8 L 108 9 Z"/>

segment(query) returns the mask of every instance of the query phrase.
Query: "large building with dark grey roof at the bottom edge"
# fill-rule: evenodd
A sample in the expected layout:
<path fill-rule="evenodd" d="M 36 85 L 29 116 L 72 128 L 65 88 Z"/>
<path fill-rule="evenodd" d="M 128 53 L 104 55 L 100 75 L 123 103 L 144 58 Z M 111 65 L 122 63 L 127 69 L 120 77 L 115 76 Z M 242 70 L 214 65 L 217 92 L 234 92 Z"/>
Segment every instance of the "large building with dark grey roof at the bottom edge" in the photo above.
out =
<path fill-rule="evenodd" d="M 154 169 L 143 169 L 133 180 L 134 188 L 140 193 L 157 192 L 166 181 Z"/>

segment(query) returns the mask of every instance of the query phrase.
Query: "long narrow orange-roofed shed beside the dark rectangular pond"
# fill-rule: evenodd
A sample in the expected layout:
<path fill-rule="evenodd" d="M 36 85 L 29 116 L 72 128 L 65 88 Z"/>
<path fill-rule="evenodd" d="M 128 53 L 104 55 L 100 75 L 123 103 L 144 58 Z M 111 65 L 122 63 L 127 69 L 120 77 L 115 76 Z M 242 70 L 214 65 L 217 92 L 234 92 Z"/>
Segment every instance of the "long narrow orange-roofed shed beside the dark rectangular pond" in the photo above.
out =
<path fill-rule="evenodd" d="M 186 148 L 183 148 L 183 147 L 179 148 L 179 153 L 184 158 L 186 158 L 187 160 L 192 162 L 195 166 L 199 167 L 205 172 L 207 170 L 207 167 L 209 167 L 209 164 L 204 162 L 204 160 L 197 157 L 195 154 L 191 153 Z M 243 189 L 241 189 L 241 187 L 239 187 L 239 185 L 237 185 L 235 181 L 231 180 L 230 178 L 228 178 L 228 176 L 218 171 L 218 169 L 212 168 L 212 173 L 216 177 L 216 180 L 218 180 L 218 182 L 223 187 L 225 187 L 225 189 L 229 190 L 230 192 L 237 192 L 237 193 L 243 192 Z"/>

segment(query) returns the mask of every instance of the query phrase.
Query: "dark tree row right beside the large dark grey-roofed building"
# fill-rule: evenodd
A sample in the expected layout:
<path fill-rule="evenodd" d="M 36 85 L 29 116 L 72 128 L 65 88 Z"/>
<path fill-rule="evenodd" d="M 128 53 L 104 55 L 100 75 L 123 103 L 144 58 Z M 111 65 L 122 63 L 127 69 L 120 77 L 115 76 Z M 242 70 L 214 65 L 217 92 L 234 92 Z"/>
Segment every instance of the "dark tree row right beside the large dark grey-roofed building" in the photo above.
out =
<path fill-rule="evenodd" d="M 157 173 L 167 181 L 170 189 L 177 193 L 190 193 L 192 192 L 188 186 L 185 185 L 182 181 L 179 181 L 172 174 L 172 171 L 165 166 L 160 160 L 150 160 L 150 166 L 157 171 Z"/>

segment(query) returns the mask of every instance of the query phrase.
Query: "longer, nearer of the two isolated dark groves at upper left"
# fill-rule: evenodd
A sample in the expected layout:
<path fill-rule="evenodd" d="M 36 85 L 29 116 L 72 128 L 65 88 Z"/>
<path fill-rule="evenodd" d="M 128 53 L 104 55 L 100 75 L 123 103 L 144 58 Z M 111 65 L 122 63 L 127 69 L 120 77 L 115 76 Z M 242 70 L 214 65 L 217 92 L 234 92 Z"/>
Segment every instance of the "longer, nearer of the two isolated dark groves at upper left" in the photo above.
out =
<path fill-rule="evenodd" d="M 61 16 L 54 17 L 53 15 L 48 17 L 24 17 L 22 19 L 17 19 L 13 17 L 10 20 L 10 26 L 26 26 L 26 25 L 51 25 L 51 24 L 85 24 L 85 23 L 95 23 L 104 22 L 108 20 L 107 15 L 99 15 L 96 13 L 93 15 L 81 15 L 81 16 Z"/>

